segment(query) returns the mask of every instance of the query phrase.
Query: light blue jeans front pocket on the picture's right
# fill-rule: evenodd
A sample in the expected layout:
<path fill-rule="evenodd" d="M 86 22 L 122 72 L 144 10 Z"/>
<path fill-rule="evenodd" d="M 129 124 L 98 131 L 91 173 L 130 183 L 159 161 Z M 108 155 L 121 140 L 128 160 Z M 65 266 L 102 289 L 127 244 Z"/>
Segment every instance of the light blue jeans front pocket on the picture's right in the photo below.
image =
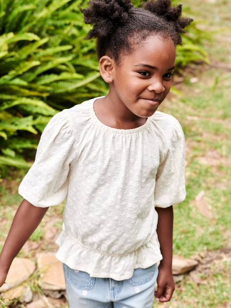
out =
<path fill-rule="evenodd" d="M 134 287 L 134 286 L 141 286 L 149 282 L 154 277 L 156 267 L 157 264 L 155 263 L 154 265 L 146 269 L 142 268 L 135 269 L 132 277 L 128 279 L 128 283 Z"/>

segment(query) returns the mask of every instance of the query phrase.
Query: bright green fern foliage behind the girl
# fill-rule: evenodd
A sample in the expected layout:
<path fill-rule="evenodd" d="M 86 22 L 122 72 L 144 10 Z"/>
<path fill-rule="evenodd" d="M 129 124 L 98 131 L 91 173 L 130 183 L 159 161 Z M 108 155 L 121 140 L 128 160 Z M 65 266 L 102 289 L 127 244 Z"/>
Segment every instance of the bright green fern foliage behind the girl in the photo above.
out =
<path fill-rule="evenodd" d="M 84 40 L 90 26 L 79 6 L 86 2 L 0 1 L 0 167 L 29 168 L 38 133 L 52 116 L 107 93 L 95 41 Z M 202 32 L 196 24 L 189 31 L 178 67 L 208 61 L 198 47 Z"/>

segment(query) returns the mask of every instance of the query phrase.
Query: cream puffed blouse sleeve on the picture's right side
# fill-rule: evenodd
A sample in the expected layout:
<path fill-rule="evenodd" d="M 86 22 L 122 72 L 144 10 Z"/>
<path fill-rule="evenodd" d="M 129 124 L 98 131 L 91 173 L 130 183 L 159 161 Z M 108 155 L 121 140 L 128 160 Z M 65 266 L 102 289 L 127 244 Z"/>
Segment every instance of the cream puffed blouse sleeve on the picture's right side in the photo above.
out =
<path fill-rule="evenodd" d="M 179 122 L 175 119 L 169 149 L 156 174 L 155 207 L 166 208 L 180 203 L 186 198 L 185 156 L 183 131 Z"/>

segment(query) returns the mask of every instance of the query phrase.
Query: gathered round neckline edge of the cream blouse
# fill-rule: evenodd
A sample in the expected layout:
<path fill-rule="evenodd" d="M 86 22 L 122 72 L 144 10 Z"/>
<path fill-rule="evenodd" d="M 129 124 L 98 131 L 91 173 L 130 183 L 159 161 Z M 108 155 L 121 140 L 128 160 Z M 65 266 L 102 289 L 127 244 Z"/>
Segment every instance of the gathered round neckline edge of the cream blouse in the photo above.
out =
<path fill-rule="evenodd" d="M 111 127 L 111 126 L 108 126 L 104 123 L 102 123 L 97 115 L 96 115 L 96 112 L 95 112 L 95 109 L 94 109 L 94 103 L 96 100 L 102 98 L 104 96 L 99 96 L 99 97 L 96 97 L 94 99 L 91 100 L 91 104 L 90 104 L 90 113 L 91 113 L 91 117 L 92 119 L 95 121 L 95 124 L 103 129 L 104 131 L 107 131 L 108 133 L 116 133 L 116 134 L 135 134 L 135 133 L 138 133 L 140 131 L 143 131 L 143 130 L 146 130 L 148 128 L 148 126 L 150 125 L 150 118 L 151 117 L 148 117 L 146 122 L 141 125 L 141 126 L 138 126 L 138 127 L 135 127 L 135 128 L 129 128 L 129 129 L 122 129 L 122 128 L 115 128 L 115 127 Z"/>

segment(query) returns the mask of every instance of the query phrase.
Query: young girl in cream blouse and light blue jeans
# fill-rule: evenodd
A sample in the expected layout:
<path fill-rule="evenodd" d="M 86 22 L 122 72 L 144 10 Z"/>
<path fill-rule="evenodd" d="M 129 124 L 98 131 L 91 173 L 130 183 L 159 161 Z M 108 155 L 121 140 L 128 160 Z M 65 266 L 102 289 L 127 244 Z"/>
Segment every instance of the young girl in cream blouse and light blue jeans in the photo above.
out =
<path fill-rule="evenodd" d="M 70 308 L 151 308 L 169 301 L 172 205 L 186 197 L 184 136 L 157 111 L 167 96 L 183 28 L 181 5 L 91 0 L 105 97 L 65 109 L 45 127 L 24 198 L 0 257 L 0 285 L 50 206 L 67 197 L 56 243 Z M 160 261 L 160 262 L 158 262 Z M 159 264 L 159 266 L 158 266 Z"/>

